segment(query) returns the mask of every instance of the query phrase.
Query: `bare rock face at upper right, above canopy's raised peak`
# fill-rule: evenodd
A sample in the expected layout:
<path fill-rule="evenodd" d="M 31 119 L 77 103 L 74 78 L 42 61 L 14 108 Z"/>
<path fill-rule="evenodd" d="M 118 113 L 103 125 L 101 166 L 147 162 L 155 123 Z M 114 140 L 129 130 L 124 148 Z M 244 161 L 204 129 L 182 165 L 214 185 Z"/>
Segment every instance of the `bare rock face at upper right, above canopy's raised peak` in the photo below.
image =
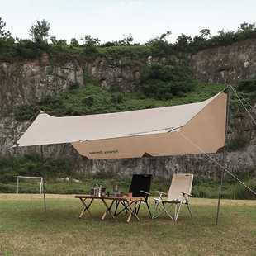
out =
<path fill-rule="evenodd" d="M 202 50 L 192 55 L 195 78 L 206 83 L 234 83 L 256 76 L 256 40 Z"/>

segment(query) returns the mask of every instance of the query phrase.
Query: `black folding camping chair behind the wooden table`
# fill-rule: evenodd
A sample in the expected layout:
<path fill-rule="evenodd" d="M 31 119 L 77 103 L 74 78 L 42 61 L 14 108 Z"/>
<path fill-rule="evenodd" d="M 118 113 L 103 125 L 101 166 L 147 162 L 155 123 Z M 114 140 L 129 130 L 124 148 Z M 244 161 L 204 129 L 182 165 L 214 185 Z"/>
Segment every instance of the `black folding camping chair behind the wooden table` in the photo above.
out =
<path fill-rule="evenodd" d="M 148 203 L 151 179 L 152 179 L 151 174 L 133 174 L 132 175 L 129 192 L 132 193 L 132 197 L 141 197 L 141 200 L 138 203 L 138 206 L 136 207 L 136 211 L 135 211 L 136 215 L 139 214 L 141 203 L 145 203 L 149 211 L 149 216 L 152 217 L 152 214 L 149 208 L 149 203 Z M 124 208 L 121 211 L 117 212 L 118 206 L 119 206 L 119 202 L 118 202 L 116 204 L 115 216 L 118 216 L 123 211 L 126 211 L 126 213 L 127 213 L 127 210 L 129 211 L 127 205 L 125 205 L 123 202 L 121 202 L 121 204 L 122 206 L 124 206 Z"/>

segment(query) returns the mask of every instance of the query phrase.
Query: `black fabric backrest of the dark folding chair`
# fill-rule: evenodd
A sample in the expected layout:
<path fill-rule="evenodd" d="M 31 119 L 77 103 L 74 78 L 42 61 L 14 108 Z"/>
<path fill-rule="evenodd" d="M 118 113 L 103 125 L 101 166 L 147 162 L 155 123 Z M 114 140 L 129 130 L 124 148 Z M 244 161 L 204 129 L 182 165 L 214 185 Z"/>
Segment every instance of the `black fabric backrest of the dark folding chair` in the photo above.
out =
<path fill-rule="evenodd" d="M 133 197 L 145 197 L 145 193 L 140 192 L 140 190 L 149 192 L 151 186 L 151 179 L 151 174 L 133 174 L 129 192 L 132 193 Z"/>

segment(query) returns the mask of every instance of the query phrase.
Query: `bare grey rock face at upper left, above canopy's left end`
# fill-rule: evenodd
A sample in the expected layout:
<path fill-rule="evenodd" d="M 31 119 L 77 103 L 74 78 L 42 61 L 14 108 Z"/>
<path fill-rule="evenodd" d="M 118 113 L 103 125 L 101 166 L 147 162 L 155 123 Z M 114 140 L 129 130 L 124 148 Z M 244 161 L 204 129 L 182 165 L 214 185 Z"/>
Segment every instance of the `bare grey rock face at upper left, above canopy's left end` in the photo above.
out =
<path fill-rule="evenodd" d="M 34 61 L 0 63 L 0 116 L 5 109 L 40 101 L 83 85 L 83 69 L 77 62 L 51 64 L 48 55 Z"/>

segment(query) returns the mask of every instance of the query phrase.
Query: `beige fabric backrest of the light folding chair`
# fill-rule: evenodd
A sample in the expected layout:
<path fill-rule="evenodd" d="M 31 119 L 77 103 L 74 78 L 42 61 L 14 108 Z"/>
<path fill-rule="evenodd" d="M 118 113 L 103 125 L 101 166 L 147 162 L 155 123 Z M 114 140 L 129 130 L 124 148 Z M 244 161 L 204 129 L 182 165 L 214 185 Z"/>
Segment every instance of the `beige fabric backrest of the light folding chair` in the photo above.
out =
<path fill-rule="evenodd" d="M 171 186 L 168 191 L 168 200 L 180 200 L 184 201 L 184 197 L 181 192 L 188 194 L 192 191 L 193 174 L 179 173 L 173 174 Z"/>

